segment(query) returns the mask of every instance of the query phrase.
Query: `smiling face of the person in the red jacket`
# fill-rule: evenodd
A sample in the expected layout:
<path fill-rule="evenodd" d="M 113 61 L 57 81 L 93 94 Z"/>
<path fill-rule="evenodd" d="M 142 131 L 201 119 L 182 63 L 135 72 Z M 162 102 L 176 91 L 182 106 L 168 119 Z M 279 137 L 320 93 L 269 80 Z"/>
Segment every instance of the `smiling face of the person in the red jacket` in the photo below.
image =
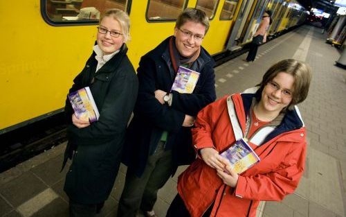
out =
<path fill-rule="evenodd" d="M 277 116 L 293 98 L 294 78 L 291 74 L 280 72 L 269 81 L 262 91 L 259 109 L 268 116 Z"/>

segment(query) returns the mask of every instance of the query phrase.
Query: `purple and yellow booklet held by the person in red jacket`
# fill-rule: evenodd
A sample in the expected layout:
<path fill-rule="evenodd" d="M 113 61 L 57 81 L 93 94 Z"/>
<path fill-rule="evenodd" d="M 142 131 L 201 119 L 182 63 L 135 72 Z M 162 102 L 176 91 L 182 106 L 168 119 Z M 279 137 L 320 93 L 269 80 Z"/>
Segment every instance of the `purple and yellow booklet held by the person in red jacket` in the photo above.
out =
<path fill-rule="evenodd" d="M 242 173 L 248 168 L 260 162 L 255 151 L 248 145 L 244 139 L 239 139 L 233 146 L 221 153 L 222 157 L 226 157 L 230 161 L 230 165 L 236 173 Z"/>

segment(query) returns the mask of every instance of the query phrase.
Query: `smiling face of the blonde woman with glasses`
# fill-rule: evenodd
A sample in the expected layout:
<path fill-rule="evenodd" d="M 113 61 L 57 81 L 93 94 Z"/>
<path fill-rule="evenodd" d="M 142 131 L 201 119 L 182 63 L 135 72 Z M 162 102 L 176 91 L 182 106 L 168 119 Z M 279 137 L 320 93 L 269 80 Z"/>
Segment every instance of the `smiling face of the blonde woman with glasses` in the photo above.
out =
<path fill-rule="evenodd" d="M 100 27 L 107 29 L 107 31 L 122 33 L 119 22 L 113 17 L 104 17 L 100 22 Z M 122 44 L 125 42 L 123 35 L 119 37 L 112 37 L 109 32 L 102 34 L 98 32 L 97 35 L 98 46 L 104 55 L 111 54 L 118 51 Z"/>

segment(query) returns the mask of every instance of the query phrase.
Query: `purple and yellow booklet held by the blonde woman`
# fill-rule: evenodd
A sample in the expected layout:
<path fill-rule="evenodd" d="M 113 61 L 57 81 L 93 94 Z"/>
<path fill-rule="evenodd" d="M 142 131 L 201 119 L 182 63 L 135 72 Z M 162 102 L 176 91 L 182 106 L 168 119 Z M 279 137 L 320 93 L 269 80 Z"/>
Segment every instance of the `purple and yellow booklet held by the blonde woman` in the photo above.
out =
<path fill-rule="evenodd" d="M 78 119 L 89 120 L 90 123 L 98 120 L 100 113 L 89 87 L 78 89 L 78 91 L 72 92 L 68 96 Z"/>

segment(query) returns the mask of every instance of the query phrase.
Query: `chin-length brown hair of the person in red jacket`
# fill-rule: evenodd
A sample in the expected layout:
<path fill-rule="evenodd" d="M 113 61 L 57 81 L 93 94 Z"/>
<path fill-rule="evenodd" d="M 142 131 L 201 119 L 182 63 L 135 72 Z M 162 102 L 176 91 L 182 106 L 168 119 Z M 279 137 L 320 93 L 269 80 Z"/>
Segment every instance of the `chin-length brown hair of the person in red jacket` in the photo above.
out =
<path fill-rule="evenodd" d="M 288 59 L 281 60 L 271 66 L 262 78 L 262 82 L 257 85 L 260 86 L 260 92 L 262 93 L 264 86 L 271 82 L 278 73 L 284 72 L 293 76 L 293 95 L 292 101 L 289 107 L 301 103 L 307 98 L 309 92 L 309 86 L 311 82 L 311 68 L 304 62 L 298 60 Z"/>

